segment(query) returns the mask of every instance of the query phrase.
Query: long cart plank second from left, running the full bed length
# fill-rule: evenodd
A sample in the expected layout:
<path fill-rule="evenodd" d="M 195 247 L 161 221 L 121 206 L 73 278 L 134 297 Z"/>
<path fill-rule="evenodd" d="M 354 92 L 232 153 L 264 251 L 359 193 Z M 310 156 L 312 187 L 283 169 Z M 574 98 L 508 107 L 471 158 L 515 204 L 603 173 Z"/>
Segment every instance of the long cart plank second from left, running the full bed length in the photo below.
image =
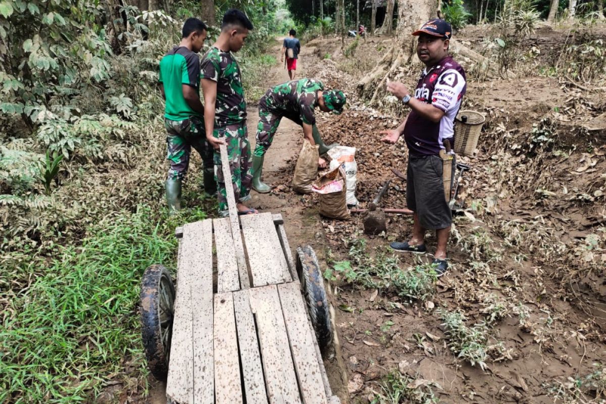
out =
<path fill-rule="evenodd" d="M 213 225 L 207 219 L 184 227 L 184 235 L 196 240 L 189 260 L 193 317 L 193 388 L 195 404 L 213 404 Z"/>

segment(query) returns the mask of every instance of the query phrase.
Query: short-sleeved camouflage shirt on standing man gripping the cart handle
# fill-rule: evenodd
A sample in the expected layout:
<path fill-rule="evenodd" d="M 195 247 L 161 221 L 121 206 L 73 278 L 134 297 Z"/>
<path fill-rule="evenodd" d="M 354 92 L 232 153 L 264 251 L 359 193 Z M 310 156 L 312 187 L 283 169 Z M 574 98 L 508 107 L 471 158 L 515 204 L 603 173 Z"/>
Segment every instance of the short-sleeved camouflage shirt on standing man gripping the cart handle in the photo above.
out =
<path fill-rule="evenodd" d="M 200 77 L 217 83 L 215 126 L 225 127 L 246 119 L 246 101 L 242 87 L 242 73 L 230 52 L 212 47 L 204 55 Z"/>

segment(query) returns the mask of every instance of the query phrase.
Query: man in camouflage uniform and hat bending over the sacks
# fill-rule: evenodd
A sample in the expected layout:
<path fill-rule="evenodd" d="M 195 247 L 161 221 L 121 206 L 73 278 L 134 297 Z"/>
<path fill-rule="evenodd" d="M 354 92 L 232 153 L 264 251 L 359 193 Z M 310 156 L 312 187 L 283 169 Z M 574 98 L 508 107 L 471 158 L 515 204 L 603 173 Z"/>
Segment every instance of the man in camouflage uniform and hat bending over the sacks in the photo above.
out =
<path fill-rule="evenodd" d="M 253 189 L 261 193 L 271 190 L 267 184 L 261 182 L 261 174 L 265 151 L 271 146 L 282 117 L 301 125 L 305 139 L 311 145 L 319 145 L 319 153 L 324 154 L 335 145 L 327 146 L 322 141 L 316 127 L 315 107 L 321 111 L 340 114 L 345 101 L 343 91 L 325 91 L 324 84 L 313 79 L 289 81 L 267 90 L 259 101 L 257 145 L 253 156 Z M 318 165 L 324 167 L 324 159 L 319 159 Z"/>

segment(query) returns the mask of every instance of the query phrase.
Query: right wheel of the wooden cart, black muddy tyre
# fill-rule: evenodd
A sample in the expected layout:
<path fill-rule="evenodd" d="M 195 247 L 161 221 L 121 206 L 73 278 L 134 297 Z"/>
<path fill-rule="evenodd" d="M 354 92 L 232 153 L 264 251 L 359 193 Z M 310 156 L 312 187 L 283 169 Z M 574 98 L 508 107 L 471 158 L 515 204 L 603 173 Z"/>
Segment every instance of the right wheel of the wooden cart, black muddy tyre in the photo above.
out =
<path fill-rule="evenodd" d="M 311 324 L 316 331 L 320 349 L 325 351 L 331 341 L 332 327 L 322 271 L 313 248 L 308 245 L 297 248 L 296 265 L 305 300 L 307 300 Z"/>

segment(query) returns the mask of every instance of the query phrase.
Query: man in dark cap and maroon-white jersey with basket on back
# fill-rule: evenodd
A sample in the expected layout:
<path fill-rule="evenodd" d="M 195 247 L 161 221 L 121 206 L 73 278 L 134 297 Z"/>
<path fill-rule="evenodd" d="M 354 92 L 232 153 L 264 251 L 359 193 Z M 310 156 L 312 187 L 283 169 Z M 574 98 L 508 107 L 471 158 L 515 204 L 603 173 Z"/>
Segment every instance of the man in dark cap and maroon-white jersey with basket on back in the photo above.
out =
<path fill-rule="evenodd" d="M 391 243 L 391 248 L 425 253 L 425 230 L 436 230 L 433 264 L 438 276 L 448 268 L 446 247 L 452 222 L 439 153 L 445 140 L 454 144 L 454 118 L 467 89 L 465 71 L 448 55 L 451 34 L 450 24 L 439 18 L 413 32 L 419 37 L 416 50 L 425 68 L 414 93 L 402 83 L 388 82 L 387 91 L 410 107 L 410 113 L 398 128 L 381 132 L 387 135 L 381 140 L 392 144 L 404 134 L 408 146 L 406 202 L 415 212 L 412 236 Z"/>

